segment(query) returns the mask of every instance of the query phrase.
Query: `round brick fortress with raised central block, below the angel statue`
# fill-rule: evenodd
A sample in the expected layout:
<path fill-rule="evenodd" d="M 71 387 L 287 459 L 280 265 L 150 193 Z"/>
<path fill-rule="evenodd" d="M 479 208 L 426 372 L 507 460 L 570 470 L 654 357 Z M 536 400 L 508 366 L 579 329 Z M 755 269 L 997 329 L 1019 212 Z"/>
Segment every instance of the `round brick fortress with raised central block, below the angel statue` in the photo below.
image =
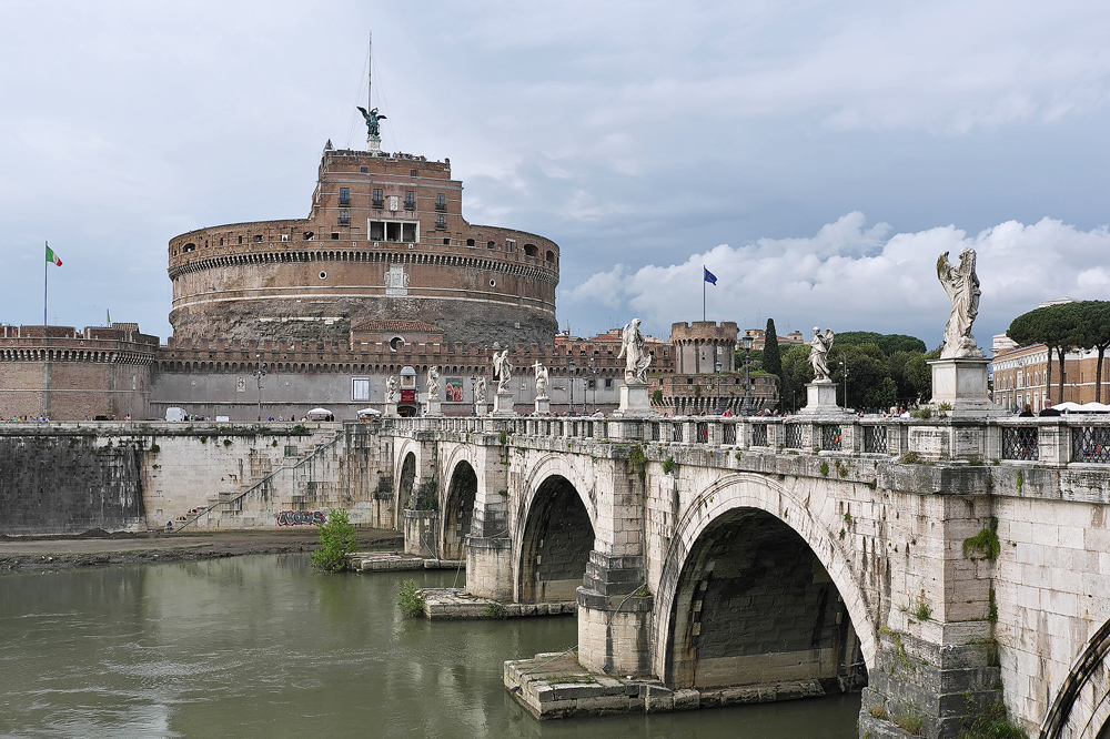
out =
<path fill-rule="evenodd" d="M 325 149 L 309 217 L 170 241 L 178 338 L 317 338 L 415 320 L 446 343 L 551 344 L 558 246 L 471 225 L 451 164 Z"/>

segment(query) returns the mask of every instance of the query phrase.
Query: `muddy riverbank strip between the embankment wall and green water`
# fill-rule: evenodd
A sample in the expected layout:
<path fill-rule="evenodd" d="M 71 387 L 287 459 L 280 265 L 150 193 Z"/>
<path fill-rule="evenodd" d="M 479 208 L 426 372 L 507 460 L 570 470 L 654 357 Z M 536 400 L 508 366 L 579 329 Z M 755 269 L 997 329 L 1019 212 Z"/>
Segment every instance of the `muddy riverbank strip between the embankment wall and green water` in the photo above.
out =
<path fill-rule="evenodd" d="M 400 548 L 398 532 L 357 530 L 359 549 Z M 75 536 L 0 536 L 0 573 L 54 570 L 104 565 L 218 559 L 251 554 L 312 551 L 320 544 L 315 527 L 265 532 L 85 532 Z"/>

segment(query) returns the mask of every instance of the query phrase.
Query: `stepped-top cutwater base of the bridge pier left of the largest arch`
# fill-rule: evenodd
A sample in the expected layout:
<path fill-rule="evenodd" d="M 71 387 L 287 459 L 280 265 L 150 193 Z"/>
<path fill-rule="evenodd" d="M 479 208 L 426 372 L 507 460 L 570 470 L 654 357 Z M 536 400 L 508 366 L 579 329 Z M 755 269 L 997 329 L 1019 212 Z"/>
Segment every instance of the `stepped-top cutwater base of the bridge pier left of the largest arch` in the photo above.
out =
<path fill-rule="evenodd" d="M 654 598 L 643 586 L 644 558 L 589 553 L 578 588 L 578 661 L 613 675 L 652 671 Z"/>

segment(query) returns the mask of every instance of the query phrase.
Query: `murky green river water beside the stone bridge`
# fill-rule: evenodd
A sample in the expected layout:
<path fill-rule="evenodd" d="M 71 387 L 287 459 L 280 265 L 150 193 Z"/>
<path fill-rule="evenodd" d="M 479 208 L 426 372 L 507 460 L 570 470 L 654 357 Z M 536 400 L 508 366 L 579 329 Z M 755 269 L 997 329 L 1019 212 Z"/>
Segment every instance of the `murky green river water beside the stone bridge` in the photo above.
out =
<path fill-rule="evenodd" d="M 856 737 L 858 696 L 534 721 L 506 659 L 574 645 L 574 618 L 402 618 L 408 578 L 303 555 L 0 577 L 3 737 Z"/>

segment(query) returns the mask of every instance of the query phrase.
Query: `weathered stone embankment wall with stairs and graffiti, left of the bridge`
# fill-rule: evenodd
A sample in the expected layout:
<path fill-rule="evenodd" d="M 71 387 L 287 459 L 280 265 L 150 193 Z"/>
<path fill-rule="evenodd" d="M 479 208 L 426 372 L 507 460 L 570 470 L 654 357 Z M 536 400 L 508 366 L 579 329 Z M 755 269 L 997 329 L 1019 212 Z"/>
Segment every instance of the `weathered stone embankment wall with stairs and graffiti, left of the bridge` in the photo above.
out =
<path fill-rule="evenodd" d="M 349 512 L 393 528 L 392 439 L 371 424 L 3 424 L 0 534 L 279 528 Z M 284 515 L 283 515 L 284 514 Z"/>

